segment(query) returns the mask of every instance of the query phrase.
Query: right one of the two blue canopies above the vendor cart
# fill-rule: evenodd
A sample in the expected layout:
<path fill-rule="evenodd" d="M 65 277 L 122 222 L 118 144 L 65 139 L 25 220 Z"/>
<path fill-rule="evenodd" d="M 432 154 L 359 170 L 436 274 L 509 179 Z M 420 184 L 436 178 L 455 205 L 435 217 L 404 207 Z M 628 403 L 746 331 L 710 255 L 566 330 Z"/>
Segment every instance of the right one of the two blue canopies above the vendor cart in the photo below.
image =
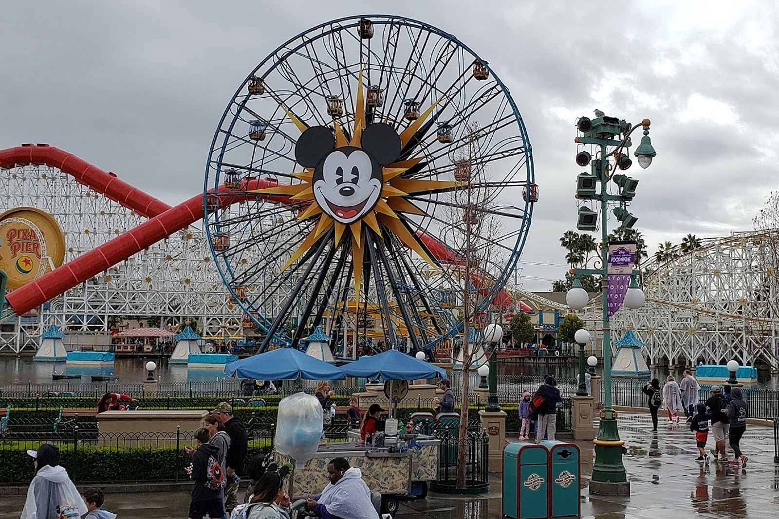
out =
<path fill-rule="evenodd" d="M 416 380 L 446 377 L 446 371 L 424 360 L 390 349 L 377 355 L 364 356 L 344 366 L 350 377 L 379 380 Z"/>

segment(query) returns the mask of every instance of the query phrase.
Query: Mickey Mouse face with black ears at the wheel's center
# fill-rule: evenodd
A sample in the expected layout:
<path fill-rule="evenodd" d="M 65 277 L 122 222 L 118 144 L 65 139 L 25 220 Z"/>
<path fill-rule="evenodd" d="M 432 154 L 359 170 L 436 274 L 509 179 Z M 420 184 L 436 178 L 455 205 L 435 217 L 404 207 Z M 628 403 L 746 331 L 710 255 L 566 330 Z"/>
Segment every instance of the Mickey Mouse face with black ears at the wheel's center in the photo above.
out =
<path fill-rule="evenodd" d="M 389 125 L 375 123 L 365 128 L 361 148 L 335 149 L 330 128 L 308 128 L 298 139 L 295 158 L 302 166 L 313 167 L 314 199 L 337 222 L 358 221 L 379 202 L 382 192 L 382 164 L 392 163 L 400 154 L 400 138 Z"/>

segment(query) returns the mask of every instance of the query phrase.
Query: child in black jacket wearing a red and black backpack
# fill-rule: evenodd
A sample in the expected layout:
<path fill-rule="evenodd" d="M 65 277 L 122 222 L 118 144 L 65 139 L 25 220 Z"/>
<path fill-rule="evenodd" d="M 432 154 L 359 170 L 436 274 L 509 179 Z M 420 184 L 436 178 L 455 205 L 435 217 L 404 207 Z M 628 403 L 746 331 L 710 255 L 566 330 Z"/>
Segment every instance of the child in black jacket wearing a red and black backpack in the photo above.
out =
<path fill-rule="evenodd" d="M 225 516 L 221 493 L 224 472 L 219 464 L 219 450 L 208 443 L 210 433 L 204 427 L 195 431 L 198 447 L 192 451 L 190 477 L 195 482 L 189 502 L 189 519 L 222 519 Z"/>

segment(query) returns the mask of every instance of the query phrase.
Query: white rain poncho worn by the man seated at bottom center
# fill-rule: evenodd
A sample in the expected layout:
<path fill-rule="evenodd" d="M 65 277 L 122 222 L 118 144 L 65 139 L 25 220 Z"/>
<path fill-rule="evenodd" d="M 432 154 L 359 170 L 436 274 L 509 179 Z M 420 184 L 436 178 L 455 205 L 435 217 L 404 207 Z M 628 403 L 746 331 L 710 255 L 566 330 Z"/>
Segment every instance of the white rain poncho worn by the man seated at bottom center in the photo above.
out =
<path fill-rule="evenodd" d="M 379 513 L 371 501 L 371 490 L 362 480 L 362 472 L 357 467 L 347 469 L 335 485 L 327 484 L 314 511 L 323 519 L 330 516 L 379 519 Z"/>

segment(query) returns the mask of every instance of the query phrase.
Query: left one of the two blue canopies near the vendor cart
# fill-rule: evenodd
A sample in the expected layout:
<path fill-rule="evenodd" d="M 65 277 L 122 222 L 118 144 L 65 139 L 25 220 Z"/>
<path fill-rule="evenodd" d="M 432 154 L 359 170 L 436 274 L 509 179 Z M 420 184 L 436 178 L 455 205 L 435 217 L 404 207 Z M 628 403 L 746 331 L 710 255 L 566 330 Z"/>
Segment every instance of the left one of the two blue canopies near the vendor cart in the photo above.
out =
<path fill-rule="evenodd" d="M 294 348 L 284 347 L 259 353 L 228 363 L 224 373 L 229 377 L 256 380 L 336 380 L 346 377 L 344 370 L 306 355 Z"/>

